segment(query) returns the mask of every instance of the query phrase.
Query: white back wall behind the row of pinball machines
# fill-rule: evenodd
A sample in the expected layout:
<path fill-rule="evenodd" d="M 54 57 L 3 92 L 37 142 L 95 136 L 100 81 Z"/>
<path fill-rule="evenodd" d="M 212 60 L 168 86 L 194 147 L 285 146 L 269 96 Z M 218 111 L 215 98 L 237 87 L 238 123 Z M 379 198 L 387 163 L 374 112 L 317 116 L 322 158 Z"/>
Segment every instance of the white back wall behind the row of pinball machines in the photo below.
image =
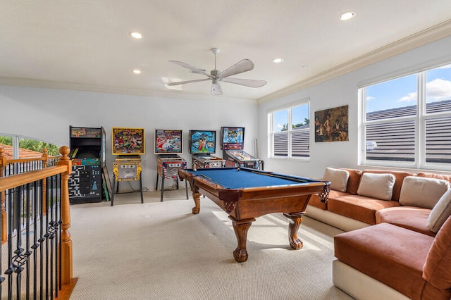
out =
<path fill-rule="evenodd" d="M 257 102 L 211 96 L 209 101 L 77 92 L 0 85 L 0 135 L 22 135 L 69 146 L 69 125 L 106 131 L 106 165 L 112 178 L 111 127 L 144 128 L 143 186 L 155 189 L 154 130 L 183 130 L 183 158 L 191 165 L 189 130 L 216 130 L 216 156 L 222 157 L 221 126 L 245 127 L 245 151 L 254 153 Z M 172 185 L 173 180 L 166 180 Z M 137 182 L 130 183 L 137 189 Z M 121 185 L 123 190 L 125 185 Z"/>

